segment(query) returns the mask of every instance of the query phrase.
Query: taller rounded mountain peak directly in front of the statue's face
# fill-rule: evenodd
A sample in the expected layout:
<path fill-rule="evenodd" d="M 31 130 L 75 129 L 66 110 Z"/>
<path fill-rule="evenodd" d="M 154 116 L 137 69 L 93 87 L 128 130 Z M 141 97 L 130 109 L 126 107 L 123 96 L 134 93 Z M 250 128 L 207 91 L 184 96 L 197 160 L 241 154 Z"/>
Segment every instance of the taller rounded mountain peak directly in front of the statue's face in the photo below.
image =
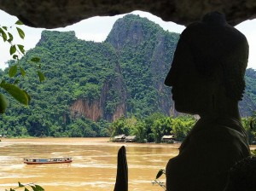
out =
<path fill-rule="evenodd" d="M 106 41 L 119 55 L 127 87 L 128 113 L 170 114 L 171 91 L 163 85 L 179 35 L 137 15 L 126 15 L 113 25 Z"/>

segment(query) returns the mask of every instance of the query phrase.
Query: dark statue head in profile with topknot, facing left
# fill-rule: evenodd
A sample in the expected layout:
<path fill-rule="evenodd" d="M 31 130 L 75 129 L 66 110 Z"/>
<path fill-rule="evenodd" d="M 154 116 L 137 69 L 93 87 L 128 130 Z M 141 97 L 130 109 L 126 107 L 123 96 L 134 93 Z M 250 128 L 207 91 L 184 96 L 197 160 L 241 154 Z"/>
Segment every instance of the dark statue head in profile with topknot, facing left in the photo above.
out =
<path fill-rule="evenodd" d="M 172 86 L 177 111 L 200 114 L 219 99 L 240 101 L 247 59 L 247 39 L 224 14 L 212 12 L 189 25 L 180 35 L 165 80 Z"/>

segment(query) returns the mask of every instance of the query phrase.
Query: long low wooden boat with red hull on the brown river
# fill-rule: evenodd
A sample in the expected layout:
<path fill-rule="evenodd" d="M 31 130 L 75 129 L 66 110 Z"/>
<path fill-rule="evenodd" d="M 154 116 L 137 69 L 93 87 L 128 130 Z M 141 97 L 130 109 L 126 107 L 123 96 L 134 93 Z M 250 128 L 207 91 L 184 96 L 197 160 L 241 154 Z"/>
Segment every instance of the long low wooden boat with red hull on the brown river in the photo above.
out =
<path fill-rule="evenodd" d="M 24 163 L 26 165 L 71 163 L 72 161 L 73 159 L 71 157 L 50 158 L 50 159 L 24 158 Z"/>

